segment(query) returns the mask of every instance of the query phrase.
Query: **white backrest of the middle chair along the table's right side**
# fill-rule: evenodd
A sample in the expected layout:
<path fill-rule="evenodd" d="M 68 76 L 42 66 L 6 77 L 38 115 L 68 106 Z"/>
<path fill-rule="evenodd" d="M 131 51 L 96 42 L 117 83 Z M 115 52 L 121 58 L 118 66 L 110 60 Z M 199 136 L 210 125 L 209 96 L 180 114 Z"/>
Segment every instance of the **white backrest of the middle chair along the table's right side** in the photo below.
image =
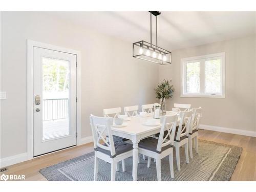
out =
<path fill-rule="evenodd" d="M 180 123 L 179 123 L 179 128 L 177 131 L 177 135 L 175 140 L 176 141 L 180 141 L 180 138 L 183 136 L 187 136 L 188 137 L 188 133 L 189 133 L 189 129 L 190 129 L 190 122 L 191 122 L 191 118 L 192 118 L 192 111 L 182 111 L 179 114 L 179 118 L 180 118 Z"/>

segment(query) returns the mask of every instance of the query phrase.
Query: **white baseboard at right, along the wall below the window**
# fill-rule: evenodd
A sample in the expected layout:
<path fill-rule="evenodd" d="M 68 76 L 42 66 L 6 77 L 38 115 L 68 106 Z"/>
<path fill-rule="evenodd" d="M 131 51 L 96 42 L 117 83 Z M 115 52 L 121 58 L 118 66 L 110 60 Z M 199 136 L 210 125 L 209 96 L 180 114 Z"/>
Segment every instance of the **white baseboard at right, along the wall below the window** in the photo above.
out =
<path fill-rule="evenodd" d="M 253 131 L 238 130 L 238 129 L 232 129 L 232 128 L 221 127 L 221 126 L 199 124 L 199 129 L 256 137 L 256 132 L 253 132 Z"/>

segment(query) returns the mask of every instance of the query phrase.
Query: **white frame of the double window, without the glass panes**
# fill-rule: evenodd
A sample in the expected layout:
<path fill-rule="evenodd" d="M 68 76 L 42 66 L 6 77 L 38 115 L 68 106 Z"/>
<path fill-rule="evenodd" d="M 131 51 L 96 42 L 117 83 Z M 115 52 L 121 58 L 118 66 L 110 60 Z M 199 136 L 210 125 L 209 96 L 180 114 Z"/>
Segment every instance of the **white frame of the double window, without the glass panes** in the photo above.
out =
<path fill-rule="evenodd" d="M 205 93 L 205 61 L 221 59 L 221 93 Z M 186 92 L 186 64 L 200 62 L 200 93 Z M 181 97 L 226 98 L 226 53 L 216 53 L 181 59 Z"/>

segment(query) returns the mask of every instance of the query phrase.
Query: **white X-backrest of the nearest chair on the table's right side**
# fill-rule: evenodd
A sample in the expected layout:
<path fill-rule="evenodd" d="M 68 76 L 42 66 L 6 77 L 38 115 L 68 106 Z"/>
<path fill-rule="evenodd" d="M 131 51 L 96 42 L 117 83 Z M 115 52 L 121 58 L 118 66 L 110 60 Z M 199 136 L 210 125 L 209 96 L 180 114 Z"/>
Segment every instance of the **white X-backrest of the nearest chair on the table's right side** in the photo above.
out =
<path fill-rule="evenodd" d="M 177 119 L 178 115 L 165 115 L 160 117 L 162 126 L 158 138 L 157 151 L 161 152 L 162 147 L 174 144 Z M 167 135 L 165 137 L 164 131 L 167 131 Z"/>

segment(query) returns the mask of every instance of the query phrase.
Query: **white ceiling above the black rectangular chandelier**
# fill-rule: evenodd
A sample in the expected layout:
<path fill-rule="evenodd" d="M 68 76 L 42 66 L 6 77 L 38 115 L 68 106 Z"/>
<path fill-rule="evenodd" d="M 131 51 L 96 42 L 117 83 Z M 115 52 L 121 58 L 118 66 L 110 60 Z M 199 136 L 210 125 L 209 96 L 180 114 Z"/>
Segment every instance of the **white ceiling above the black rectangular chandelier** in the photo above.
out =
<path fill-rule="evenodd" d="M 158 46 L 174 50 L 255 34 L 256 12 L 161 12 Z M 48 12 L 74 24 L 129 42 L 150 41 L 150 13 Z M 153 32 L 155 33 L 155 16 Z M 155 42 L 155 36 L 153 36 Z"/>

